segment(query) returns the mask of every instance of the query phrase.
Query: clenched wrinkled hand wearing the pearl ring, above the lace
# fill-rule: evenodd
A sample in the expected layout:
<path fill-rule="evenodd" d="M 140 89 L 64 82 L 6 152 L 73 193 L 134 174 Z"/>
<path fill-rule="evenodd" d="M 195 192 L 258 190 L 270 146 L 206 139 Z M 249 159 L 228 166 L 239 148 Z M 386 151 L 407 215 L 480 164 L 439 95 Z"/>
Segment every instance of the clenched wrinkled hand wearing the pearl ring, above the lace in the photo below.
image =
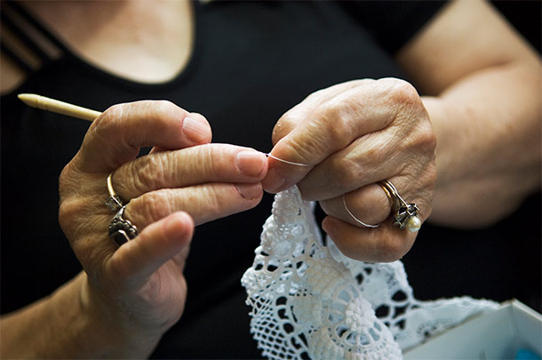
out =
<path fill-rule="evenodd" d="M 391 204 L 377 184 L 389 180 L 418 205 L 420 220 L 429 216 L 436 144 L 410 84 L 365 79 L 315 92 L 281 117 L 273 141 L 272 156 L 311 166 L 270 158 L 264 188 L 277 192 L 297 183 L 305 199 L 320 201 L 330 215 L 323 229 L 347 256 L 392 261 L 410 250 L 417 233 L 387 220 Z M 381 225 L 367 228 L 355 219 Z"/>

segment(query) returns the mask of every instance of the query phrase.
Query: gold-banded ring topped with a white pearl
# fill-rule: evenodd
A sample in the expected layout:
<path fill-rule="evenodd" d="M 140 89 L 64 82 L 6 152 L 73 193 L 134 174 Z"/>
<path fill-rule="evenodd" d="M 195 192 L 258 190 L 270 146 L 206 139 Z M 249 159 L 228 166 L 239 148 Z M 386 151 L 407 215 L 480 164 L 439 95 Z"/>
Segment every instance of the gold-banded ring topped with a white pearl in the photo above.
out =
<path fill-rule="evenodd" d="M 417 232 L 421 228 L 421 220 L 418 218 L 419 209 L 417 204 L 408 204 L 399 195 L 394 184 L 388 180 L 379 181 L 380 187 L 386 192 L 392 208 L 392 219 L 395 228 L 408 228 L 411 232 Z"/>

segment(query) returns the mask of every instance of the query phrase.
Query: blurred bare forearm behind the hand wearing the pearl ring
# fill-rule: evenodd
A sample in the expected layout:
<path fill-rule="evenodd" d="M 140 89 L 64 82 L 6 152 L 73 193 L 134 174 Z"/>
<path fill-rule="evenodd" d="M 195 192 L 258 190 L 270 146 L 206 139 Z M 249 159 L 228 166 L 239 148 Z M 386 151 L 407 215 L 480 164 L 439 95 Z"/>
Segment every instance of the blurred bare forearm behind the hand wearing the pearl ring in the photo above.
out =
<path fill-rule="evenodd" d="M 422 100 L 437 139 L 438 180 L 429 220 L 458 228 L 487 227 L 539 188 L 539 138 L 534 140 L 539 124 L 516 121 L 524 129 L 510 126 L 503 137 L 494 126 L 506 121 L 499 114 L 488 121 L 474 106 L 439 97 Z"/>

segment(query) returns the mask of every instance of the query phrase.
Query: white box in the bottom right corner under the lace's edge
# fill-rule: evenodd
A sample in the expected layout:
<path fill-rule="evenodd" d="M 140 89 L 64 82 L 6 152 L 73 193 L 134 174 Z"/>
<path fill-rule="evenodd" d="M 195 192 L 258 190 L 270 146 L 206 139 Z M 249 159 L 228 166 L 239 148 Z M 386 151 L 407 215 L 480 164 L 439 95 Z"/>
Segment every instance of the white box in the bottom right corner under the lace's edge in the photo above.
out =
<path fill-rule="evenodd" d="M 405 351 L 405 360 L 514 359 L 518 349 L 542 354 L 542 316 L 518 300 L 474 316 Z"/>

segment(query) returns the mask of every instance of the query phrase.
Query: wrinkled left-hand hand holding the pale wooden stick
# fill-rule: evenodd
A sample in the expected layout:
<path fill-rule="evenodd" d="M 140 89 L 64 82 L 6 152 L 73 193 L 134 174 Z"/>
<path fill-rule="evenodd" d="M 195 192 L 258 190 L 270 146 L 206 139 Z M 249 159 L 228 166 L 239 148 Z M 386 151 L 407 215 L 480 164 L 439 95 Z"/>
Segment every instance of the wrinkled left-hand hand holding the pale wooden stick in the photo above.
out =
<path fill-rule="evenodd" d="M 209 144 L 203 116 L 167 101 L 109 108 L 60 176 L 60 225 L 87 274 L 82 300 L 116 356 L 147 356 L 181 316 L 194 224 L 259 204 L 265 155 Z M 154 147 L 140 156 L 140 147 Z M 107 178 L 139 235 L 118 247 Z M 111 355 L 111 354 L 109 354 Z"/>

